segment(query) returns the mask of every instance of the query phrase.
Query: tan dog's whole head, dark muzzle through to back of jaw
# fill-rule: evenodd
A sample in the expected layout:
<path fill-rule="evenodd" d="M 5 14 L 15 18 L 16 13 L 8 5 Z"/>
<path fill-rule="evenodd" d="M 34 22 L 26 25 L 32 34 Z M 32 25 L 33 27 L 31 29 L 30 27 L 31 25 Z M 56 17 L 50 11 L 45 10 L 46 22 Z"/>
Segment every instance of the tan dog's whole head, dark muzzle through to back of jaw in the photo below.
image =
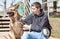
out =
<path fill-rule="evenodd" d="M 7 12 L 8 16 L 11 18 L 11 19 L 20 19 L 20 15 L 18 13 L 18 9 L 16 7 L 9 7 L 8 8 L 8 12 Z"/>

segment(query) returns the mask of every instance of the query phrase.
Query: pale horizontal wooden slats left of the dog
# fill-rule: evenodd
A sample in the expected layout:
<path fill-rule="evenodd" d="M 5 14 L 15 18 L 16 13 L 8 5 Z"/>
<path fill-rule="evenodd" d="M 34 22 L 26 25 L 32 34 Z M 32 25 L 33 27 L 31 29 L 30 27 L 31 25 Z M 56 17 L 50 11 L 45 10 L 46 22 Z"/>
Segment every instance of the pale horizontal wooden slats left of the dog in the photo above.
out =
<path fill-rule="evenodd" d="M 0 16 L 0 32 L 7 32 L 10 31 L 10 18 Z"/>

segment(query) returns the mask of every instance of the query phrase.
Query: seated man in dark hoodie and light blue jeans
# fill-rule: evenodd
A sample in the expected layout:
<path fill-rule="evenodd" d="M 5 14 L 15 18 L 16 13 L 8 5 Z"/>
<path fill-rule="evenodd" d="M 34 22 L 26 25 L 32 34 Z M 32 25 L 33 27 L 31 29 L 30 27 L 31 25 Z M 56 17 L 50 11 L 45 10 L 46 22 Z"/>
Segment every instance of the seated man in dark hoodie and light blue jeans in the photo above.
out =
<path fill-rule="evenodd" d="M 43 28 L 48 28 L 51 31 L 51 26 L 48 21 L 48 16 L 41 9 L 39 2 L 34 2 L 32 5 L 32 13 L 24 20 L 24 24 L 31 26 L 24 26 L 29 28 L 30 32 L 24 32 L 21 39 L 48 39 L 42 34 Z"/>

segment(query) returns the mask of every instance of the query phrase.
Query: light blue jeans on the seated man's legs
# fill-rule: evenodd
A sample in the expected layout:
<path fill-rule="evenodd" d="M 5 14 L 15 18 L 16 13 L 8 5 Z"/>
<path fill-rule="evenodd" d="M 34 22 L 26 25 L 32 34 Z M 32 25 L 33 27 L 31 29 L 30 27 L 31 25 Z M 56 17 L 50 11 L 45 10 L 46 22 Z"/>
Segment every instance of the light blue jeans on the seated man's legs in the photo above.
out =
<path fill-rule="evenodd" d="M 41 32 L 24 32 L 21 39 L 48 39 Z"/>

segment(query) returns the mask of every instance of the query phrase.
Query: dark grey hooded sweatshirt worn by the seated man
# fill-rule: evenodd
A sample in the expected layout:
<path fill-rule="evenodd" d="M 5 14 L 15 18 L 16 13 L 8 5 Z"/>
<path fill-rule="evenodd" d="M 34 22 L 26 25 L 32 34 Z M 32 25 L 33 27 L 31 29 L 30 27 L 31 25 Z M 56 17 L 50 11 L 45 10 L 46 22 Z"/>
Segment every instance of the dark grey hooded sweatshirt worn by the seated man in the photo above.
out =
<path fill-rule="evenodd" d="M 48 29 L 51 29 L 51 26 L 49 24 L 48 16 L 41 10 L 41 13 L 39 15 L 30 14 L 27 16 L 27 18 L 24 20 L 25 24 L 31 24 L 31 31 L 37 31 L 40 32 L 43 27 L 47 27 Z"/>

